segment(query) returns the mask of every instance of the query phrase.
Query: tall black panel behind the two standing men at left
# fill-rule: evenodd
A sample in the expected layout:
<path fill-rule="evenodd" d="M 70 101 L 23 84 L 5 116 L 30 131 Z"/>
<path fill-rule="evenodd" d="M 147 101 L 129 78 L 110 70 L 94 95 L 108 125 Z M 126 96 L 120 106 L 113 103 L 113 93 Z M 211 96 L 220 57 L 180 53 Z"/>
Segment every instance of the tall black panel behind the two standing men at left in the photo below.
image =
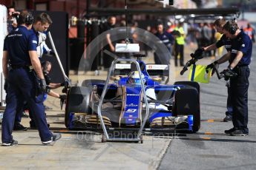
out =
<path fill-rule="evenodd" d="M 47 13 L 53 21 L 50 26 L 50 34 L 53 37 L 56 50 L 59 54 L 59 59 L 62 62 L 62 67 L 68 75 L 69 70 L 69 50 L 68 50 L 68 13 L 65 12 L 50 12 L 50 11 L 34 11 L 33 16 L 36 17 L 40 13 Z M 47 37 L 47 46 L 52 49 L 50 40 Z M 43 60 L 50 61 L 52 63 L 52 69 L 50 71 L 50 78 L 52 83 L 62 83 L 64 78 L 62 71 L 59 67 L 56 57 L 43 56 Z"/>

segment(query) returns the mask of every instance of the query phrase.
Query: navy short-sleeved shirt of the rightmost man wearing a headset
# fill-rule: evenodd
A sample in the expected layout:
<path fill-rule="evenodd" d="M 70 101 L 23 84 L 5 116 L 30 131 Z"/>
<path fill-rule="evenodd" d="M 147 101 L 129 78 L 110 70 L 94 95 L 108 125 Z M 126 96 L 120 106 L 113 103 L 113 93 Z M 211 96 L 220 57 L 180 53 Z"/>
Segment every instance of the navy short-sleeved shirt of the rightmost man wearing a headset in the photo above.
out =
<path fill-rule="evenodd" d="M 252 57 L 252 40 L 243 30 L 241 30 L 234 41 L 232 40 L 231 61 L 234 61 L 238 51 L 243 52 L 243 57 L 237 65 L 249 65 Z"/>

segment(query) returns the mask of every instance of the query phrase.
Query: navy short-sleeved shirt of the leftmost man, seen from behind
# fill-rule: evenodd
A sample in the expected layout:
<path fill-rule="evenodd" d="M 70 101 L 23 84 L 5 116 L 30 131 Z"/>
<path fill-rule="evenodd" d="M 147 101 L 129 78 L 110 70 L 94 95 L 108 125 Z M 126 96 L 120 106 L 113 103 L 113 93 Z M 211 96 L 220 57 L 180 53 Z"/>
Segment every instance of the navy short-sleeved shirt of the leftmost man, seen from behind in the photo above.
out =
<path fill-rule="evenodd" d="M 27 30 L 27 27 L 19 26 L 11 31 L 4 39 L 4 51 L 8 52 L 11 65 L 31 65 L 28 51 L 36 51 L 38 37 Z"/>

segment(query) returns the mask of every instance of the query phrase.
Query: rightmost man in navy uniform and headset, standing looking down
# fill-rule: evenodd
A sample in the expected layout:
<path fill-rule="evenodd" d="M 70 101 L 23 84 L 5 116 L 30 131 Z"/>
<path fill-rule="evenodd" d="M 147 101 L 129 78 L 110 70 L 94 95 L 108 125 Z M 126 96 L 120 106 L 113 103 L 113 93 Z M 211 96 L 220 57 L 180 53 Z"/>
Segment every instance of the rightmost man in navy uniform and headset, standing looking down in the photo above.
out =
<path fill-rule="evenodd" d="M 226 130 L 226 135 L 246 136 L 248 129 L 248 88 L 249 88 L 249 64 L 252 57 L 252 40 L 243 30 L 239 30 L 237 23 L 228 21 L 223 26 L 223 33 L 232 39 L 231 50 L 223 58 L 216 61 L 222 64 L 230 61 L 228 69 L 223 71 L 224 76 L 237 76 L 230 78 L 231 101 L 233 106 L 233 128 Z"/>

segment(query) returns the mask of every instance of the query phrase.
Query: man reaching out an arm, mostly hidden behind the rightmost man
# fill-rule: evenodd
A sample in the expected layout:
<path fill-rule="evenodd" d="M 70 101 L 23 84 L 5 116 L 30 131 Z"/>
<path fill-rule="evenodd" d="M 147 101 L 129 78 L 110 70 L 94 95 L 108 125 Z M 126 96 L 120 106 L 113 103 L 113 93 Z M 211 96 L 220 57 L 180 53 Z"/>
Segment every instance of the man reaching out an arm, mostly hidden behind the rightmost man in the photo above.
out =
<path fill-rule="evenodd" d="M 214 21 L 214 26 L 217 30 L 218 33 L 223 34 L 223 26 L 226 24 L 226 20 L 224 18 L 219 18 L 216 21 Z M 219 60 L 214 61 L 213 63 L 209 64 L 206 69 L 213 69 L 213 67 L 218 68 L 218 63 L 221 62 L 222 58 L 225 58 L 228 52 L 231 50 L 231 38 L 227 37 L 225 34 L 222 35 L 219 41 L 217 41 L 215 44 L 211 44 L 208 47 L 203 47 L 199 50 L 196 50 L 197 55 L 202 55 L 203 51 L 210 51 L 210 50 L 216 50 L 217 48 L 220 48 L 222 46 L 225 46 L 227 53 L 223 55 Z M 229 61 L 230 63 L 231 61 Z M 214 74 L 214 70 L 212 72 L 212 75 Z M 223 121 L 228 122 L 232 121 L 232 112 L 233 112 L 233 107 L 232 107 L 232 101 L 231 101 L 231 88 L 229 81 L 226 84 L 227 89 L 228 89 L 228 98 L 227 98 L 227 103 L 226 103 L 226 117 L 223 119 Z"/>

